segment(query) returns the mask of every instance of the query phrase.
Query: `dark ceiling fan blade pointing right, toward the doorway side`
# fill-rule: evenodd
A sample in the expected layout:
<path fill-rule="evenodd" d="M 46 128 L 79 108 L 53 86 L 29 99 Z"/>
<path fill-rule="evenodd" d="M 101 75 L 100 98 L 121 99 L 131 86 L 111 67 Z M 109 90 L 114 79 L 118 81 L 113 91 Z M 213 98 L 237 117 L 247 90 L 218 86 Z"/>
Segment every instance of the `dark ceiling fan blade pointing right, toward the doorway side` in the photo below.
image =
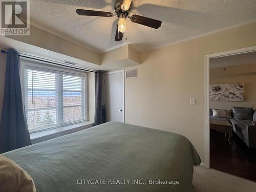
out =
<path fill-rule="evenodd" d="M 131 21 L 136 23 L 136 24 L 144 25 L 144 26 L 147 26 L 147 27 L 152 27 L 154 29 L 158 29 L 162 25 L 161 20 L 156 20 L 156 19 L 153 19 L 153 18 L 143 17 L 143 16 L 140 16 L 140 15 L 133 15 L 130 18 L 131 18 Z"/>

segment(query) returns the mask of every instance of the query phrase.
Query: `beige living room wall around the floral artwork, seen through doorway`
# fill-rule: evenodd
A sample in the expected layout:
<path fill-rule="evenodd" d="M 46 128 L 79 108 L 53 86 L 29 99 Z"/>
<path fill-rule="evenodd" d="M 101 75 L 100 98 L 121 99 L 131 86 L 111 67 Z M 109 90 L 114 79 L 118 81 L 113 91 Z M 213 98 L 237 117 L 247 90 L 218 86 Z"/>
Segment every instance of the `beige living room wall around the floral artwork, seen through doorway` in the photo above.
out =
<path fill-rule="evenodd" d="M 223 68 L 210 70 L 210 84 L 243 82 L 244 102 L 210 101 L 209 107 L 224 110 L 230 110 L 232 106 L 256 108 L 256 64 L 225 67 L 226 71 Z"/>

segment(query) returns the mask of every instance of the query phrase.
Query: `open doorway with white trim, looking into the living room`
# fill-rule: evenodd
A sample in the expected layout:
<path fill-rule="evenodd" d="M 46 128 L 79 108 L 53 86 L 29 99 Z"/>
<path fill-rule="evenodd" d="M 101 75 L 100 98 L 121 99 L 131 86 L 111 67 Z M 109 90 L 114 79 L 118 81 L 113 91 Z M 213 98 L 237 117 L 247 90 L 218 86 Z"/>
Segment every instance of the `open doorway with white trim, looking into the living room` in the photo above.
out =
<path fill-rule="evenodd" d="M 256 46 L 206 55 L 207 168 L 256 181 L 255 109 Z"/>

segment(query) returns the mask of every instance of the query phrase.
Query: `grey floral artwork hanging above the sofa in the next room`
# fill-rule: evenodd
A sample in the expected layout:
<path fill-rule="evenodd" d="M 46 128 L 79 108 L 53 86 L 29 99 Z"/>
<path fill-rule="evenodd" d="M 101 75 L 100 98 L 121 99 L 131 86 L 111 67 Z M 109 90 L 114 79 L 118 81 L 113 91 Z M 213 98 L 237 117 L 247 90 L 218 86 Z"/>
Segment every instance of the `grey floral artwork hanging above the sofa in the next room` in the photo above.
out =
<path fill-rule="evenodd" d="M 211 84 L 210 101 L 244 101 L 244 83 Z"/>

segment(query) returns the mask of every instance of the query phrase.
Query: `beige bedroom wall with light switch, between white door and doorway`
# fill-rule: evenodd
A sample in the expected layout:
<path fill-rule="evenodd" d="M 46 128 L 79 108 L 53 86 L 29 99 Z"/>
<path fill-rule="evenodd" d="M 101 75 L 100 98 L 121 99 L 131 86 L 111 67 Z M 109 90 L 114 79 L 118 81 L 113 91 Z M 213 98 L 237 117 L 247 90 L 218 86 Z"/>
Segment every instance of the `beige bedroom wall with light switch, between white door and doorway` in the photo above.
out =
<path fill-rule="evenodd" d="M 255 45 L 253 23 L 142 53 L 139 77 L 125 79 L 125 122 L 186 136 L 204 162 L 204 56 Z"/>

